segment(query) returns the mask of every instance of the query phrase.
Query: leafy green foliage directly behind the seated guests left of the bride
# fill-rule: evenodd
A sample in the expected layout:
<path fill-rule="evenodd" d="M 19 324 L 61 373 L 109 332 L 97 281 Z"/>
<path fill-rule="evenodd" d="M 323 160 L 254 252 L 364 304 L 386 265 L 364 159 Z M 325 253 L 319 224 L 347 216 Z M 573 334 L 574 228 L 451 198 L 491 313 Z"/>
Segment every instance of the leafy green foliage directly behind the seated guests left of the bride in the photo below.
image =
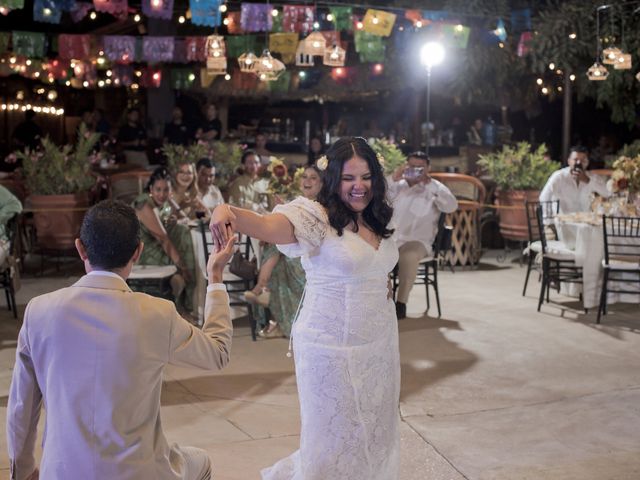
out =
<path fill-rule="evenodd" d="M 242 147 L 237 143 L 221 141 L 197 142 L 188 146 L 166 144 L 162 147 L 162 153 L 169 170 L 173 172 L 184 163 L 195 164 L 201 158 L 210 159 L 216 166 L 218 187 L 225 188 L 240 166 Z"/>

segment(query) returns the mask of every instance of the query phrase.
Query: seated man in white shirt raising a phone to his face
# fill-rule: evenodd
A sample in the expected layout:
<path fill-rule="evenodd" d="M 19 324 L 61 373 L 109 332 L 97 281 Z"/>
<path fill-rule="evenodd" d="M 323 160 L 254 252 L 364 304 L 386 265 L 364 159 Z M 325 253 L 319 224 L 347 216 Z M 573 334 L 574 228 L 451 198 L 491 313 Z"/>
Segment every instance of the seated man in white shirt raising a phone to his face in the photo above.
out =
<path fill-rule="evenodd" d="M 407 163 L 389 178 L 389 199 L 393 204 L 393 224 L 398 260 L 398 319 L 407 315 L 409 292 L 416 280 L 420 260 L 431 255 L 440 212 L 458 208 L 456 197 L 442 183 L 429 176 L 429 157 L 424 152 L 410 153 Z"/>

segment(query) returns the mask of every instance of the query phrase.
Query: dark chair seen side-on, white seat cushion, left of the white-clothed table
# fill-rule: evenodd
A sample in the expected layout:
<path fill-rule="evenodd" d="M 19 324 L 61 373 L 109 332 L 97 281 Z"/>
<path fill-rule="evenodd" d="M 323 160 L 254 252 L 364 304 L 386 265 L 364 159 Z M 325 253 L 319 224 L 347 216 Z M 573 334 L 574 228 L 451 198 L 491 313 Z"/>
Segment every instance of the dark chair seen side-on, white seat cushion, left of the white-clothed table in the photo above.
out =
<path fill-rule="evenodd" d="M 538 205 L 536 208 L 538 235 L 542 246 L 542 282 L 538 311 L 540 311 L 545 299 L 545 292 L 547 302 L 549 301 L 549 290 L 552 283 L 556 284 L 558 289 L 560 289 L 561 282 L 582 284 L 582 267 L 576 265 L 575 253 L 566 248 L 562 242 L 557 242 L 552 247 L 547 241 L 542 208 L 542 205 Z"/>

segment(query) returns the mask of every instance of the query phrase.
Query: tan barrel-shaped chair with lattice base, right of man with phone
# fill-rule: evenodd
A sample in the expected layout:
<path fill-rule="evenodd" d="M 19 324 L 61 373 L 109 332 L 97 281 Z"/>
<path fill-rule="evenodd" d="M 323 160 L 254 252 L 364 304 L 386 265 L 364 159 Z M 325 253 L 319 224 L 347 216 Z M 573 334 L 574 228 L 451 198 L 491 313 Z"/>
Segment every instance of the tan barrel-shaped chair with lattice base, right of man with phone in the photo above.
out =
<path fill-rule="evenodd" d="M 432 173 L 431 177 L 445 184 L 458 199 L 458 209 L 448 219 L 453 226 L 448 261 L 451 265 L 476 265 L 482 254 L 480 217 L 487 193 L 485 186 L 476 177 L 461 173 Z"/>

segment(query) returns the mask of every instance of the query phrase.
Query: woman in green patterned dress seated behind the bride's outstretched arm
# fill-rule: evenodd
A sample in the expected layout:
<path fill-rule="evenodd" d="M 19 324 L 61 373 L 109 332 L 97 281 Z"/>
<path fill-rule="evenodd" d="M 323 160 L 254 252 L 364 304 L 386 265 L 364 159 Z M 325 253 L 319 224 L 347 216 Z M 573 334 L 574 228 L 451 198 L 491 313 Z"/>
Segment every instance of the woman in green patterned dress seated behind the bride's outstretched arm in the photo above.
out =
<path fill-rule="evenodd" d="M 315 165 L 306 166 L 300 179 L 302 195 L 315 200 L 321 188 L 320 170 Z M 263 325 L 266 324 L 258 333 L 261 337 L 290 335 L 305 283 L 300 258 L 283 256 L 275 245 L 265 247 L 258 282 L 253 290 L 245 292 L 245 299 L 257 305 L 254 314 L 258 319 L 263 319 Z M 259 307 L 268 307 L 273 319 L 267 323 L 266 314 Z"/>

